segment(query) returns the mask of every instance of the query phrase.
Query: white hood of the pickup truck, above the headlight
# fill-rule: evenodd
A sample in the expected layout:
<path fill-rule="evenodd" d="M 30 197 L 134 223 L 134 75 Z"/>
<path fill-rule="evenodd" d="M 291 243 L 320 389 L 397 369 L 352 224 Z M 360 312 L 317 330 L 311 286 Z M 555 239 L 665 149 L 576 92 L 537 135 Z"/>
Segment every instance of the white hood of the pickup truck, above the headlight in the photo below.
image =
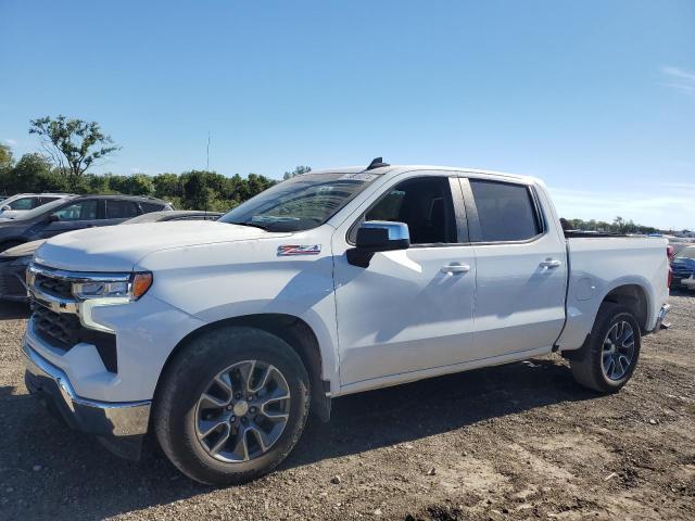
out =
<path fill-rule="evenodd" d="M 282 236 L 287 233 L 201 220 L 108 226 L 49 239 L 35 260 L 72 271 L 130 271 L 142 257 L 161 250 Z"/>

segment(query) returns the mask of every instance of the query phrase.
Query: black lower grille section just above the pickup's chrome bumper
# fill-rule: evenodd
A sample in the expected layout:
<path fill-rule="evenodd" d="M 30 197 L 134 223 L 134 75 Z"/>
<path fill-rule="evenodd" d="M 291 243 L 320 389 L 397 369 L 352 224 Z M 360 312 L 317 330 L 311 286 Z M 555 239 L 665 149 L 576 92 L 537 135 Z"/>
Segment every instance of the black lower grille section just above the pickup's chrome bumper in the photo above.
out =
<path fill-rule="evenodd" d="M 68 352 L 80 342 L 94 345 L 106 370 L 118 372 L 115 334 L 85 328 L 77 315 L 55 313 L 36 302 L 31 303 L 31 322 L 39 339 L 61 351 Z"/>

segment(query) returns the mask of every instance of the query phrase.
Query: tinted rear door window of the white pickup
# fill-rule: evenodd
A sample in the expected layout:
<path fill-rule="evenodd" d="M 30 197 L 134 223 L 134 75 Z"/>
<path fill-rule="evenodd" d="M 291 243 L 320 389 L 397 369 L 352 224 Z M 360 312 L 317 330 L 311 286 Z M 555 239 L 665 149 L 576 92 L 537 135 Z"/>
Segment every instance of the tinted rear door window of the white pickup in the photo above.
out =
<path fill-rule="evenodd" d="M 481 242 L 526 241 L 541 233 L 541 219 L 529 187 L 469 179 Z"/>

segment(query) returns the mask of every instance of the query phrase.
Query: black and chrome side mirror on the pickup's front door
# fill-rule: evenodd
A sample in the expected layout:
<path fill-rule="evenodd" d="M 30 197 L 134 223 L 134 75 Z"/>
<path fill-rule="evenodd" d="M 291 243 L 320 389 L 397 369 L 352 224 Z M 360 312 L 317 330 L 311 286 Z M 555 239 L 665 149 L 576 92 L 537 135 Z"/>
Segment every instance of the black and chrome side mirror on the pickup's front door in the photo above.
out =
<path fill-rule="evenodd" d="M 348 250 L 348 262 L 367 268 L 377 252 L 391 252 L 410 247 L 410 232 L 405 223 L 367 220 L 357 228 L 355 247 Z"/>

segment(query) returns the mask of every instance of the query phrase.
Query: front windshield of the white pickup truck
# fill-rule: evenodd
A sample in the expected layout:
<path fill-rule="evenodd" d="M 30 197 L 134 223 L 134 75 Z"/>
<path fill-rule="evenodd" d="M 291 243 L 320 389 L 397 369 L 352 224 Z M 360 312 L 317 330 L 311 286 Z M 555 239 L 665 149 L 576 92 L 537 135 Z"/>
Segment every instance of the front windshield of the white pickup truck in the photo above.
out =
<path fill-rule="evenodd" d="M 302 174 L 267 189 L 219 218 L 268 231 L 301 231 L 330 219 L 376 174 Z"/>

